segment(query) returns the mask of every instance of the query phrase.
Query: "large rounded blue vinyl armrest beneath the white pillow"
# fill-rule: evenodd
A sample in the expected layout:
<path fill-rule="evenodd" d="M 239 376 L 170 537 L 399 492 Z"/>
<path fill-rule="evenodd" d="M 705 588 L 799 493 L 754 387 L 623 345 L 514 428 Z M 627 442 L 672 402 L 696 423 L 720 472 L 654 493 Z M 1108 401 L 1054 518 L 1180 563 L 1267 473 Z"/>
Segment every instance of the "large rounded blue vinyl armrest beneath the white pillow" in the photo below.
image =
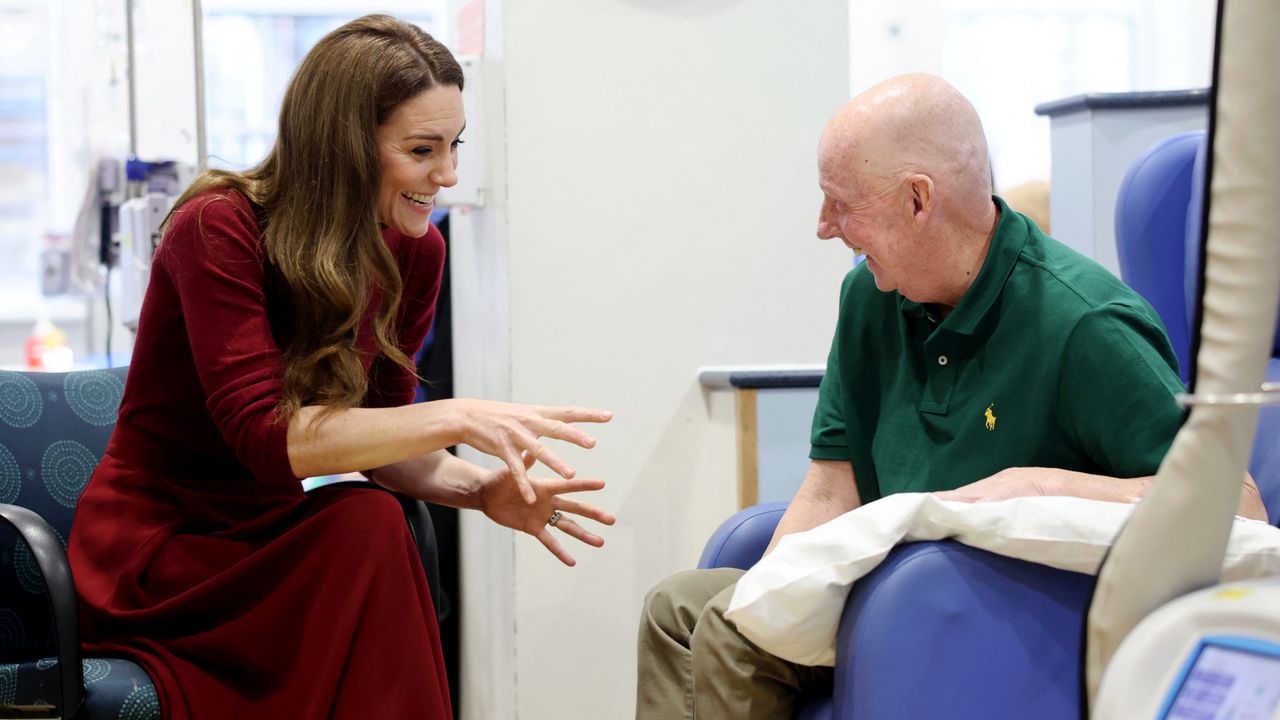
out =
<path fill-rule="evenodd" d="M 893 548 L 845 605 L 833 716 L 1079 720 L 1093 584 L 955 541 Z"/>

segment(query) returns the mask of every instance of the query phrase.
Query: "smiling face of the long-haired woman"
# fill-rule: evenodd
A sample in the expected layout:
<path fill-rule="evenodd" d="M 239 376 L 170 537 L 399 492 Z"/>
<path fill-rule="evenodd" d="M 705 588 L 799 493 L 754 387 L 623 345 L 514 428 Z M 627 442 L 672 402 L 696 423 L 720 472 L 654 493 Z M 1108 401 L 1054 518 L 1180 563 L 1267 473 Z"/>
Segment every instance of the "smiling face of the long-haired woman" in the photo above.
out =
<path fill-rule="evenodd" d="M 408 237 L 430 227 L 435 193 L 458 182 L 462 91 L 438 85 L 402 102 L 378 126 L 378 222 Z"/>

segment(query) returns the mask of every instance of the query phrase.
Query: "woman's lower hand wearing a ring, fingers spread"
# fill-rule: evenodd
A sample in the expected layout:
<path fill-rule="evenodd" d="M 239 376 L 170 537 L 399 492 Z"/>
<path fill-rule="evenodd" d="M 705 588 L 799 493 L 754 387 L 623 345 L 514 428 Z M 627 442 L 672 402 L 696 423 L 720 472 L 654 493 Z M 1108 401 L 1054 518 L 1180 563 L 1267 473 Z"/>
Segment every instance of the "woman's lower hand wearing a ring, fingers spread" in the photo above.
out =
<path fill-rule="evenodd" d="M 532 464 L 532 456 L 526 454 L 525 466 L 527 468 Z M 536 500 L 532 503 L 529 503 L 521 496 L 520 488 L 511 478 L 509 468 L 497 470 L 484 480 L 484 484 L 480 488 L 480 510 L 488 515 L 490 520 L 498 523 L 499 525 L 534 536 L 538 538 L 538 542 L 543 543 L 547 550 L 550 551 L 552 555 L 571 568 L 576 564 L 573 556 L 561 547 L 559 541 L 556 539 L 550 532 L 552 527 L 548 521 L 552 519 L 553 514 L 559 514 L 559 519 L 556 521 L 557 530 L 561 530 L 572 538 L 577 538 L 591 547 L 600 547 L 604 544 L 604 538 L 591 533 L 582 525 L 579 525 L 576 520 L 568 516 L 568 514 L 590 518 L 591 520 L 604 525 L 612 525 L 614 523 L 613 515 L 588 502 L 562 497 L 564 493 L 570 492 L 598 491 L 604 487 L 604 480 L 595 480 L 590 478 L 544 479 L 530 477 L 529 483 L 532 486 L 534 495 L 536 496 Z"/>

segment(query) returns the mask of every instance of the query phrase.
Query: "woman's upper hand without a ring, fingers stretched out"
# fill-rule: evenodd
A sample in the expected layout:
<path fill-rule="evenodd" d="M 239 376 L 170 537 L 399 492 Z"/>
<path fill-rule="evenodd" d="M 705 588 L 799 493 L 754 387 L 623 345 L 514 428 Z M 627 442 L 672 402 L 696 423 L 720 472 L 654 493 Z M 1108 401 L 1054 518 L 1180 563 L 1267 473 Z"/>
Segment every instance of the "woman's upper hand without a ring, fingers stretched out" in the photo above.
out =
<path fill-rule="evenodd" d="M 460 428 L 460 442 L 493 455 L 511 469 L 525 502 L 532 505 L 538 495 L 529 482 L 522 454 L 571 479 L 573 468 L 561 460 L 539 438 L 549 437 L 579 447 L 595 447 L 595 438 L 572 423 L 608 423 L 613 413 L 590 407 L 520 405 L 490 400 L 458 398 L 453 404 Z"/>

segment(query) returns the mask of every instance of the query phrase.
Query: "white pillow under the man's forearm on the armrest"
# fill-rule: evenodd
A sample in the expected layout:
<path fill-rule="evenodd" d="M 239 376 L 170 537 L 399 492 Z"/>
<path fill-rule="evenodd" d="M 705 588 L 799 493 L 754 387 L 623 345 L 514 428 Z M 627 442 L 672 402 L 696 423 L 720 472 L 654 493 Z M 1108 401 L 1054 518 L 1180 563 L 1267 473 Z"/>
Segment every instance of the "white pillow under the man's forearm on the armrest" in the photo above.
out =
<path fill-rule="evenodd" d="M 854 580 L 893 546 L 954 538 L 1009 557 L 1097 574 L 1132 505 L 1076 497 L 945 502 L 893 495 L 790 534 L 737 583 L 726 618 L 762 648 L 792 662 L 832 665 L 836 629 Z M 1236 518 L 1222 580 L 1280 573 L 1280 529 Z"/>

